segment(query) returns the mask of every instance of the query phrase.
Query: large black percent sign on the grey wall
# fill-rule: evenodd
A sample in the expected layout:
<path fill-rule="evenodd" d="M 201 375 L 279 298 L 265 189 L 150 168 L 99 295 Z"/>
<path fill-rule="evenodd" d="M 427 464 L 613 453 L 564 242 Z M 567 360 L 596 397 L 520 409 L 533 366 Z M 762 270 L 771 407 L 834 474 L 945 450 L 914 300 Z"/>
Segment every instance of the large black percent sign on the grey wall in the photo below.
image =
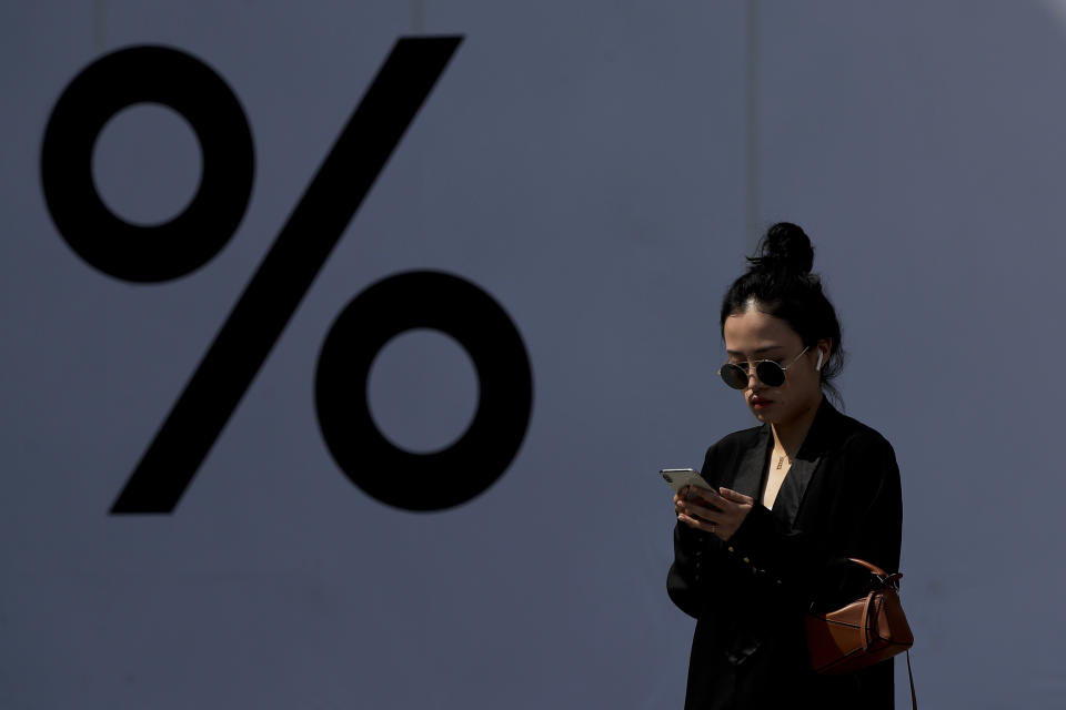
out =
<path fill-rule="evenodd" d="M 461 41 L 403 38 L 393 45 L 112 514 L 173 511 Z M 130 224 L 103 204 L 91 165 L 108 121 L 145 102 L 184 116 L 203 155 L 192 202 L 151 226 Z M 204 63 L 163 47 L 120 50 L 86 68 L 56 103 L 41 148 L 44 197 L 63 240 L 93 267 L 139 283 L 177 278 L 210 261 L 243 217 L 253 173 L 251 131 L 237 97 Z M 374 357 L 413 328 L 455 338 L 480 385 L 465 433 L 431 454 L 393 446 L 366 396 Z M 476 285 L 440 272 L 395 274 L 355 296 L 330 328 L 315 373 L 319 424 L 336 464 L 366 494 L 410 510 L 456 506 L 491 486 L 525 438 L 532 398 L 514 323 Z M 412 475 L 420 485 L 411 485 Z"/>

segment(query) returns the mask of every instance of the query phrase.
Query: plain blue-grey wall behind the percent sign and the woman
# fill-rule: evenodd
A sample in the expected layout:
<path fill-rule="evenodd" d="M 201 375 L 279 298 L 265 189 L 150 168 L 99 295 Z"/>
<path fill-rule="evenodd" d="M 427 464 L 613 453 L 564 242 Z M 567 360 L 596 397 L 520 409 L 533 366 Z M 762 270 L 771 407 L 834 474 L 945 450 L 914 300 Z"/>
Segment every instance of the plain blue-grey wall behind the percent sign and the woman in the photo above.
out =
<path fill-rule="evenodd" d="M 899 458 L 923 704 L 1060 703 L 1066 17 L 760 4 L 0 9 L 0 704 L 680 707 L 692 621 L 665 596 L 655 471 L 748 425 L 714 378 L 715 312 L 753 230 L 782 219 L 814 237 L 842 312 L 847 410 Z M 109 516 L 409 33 L 465 40 L 175 513 Z M 39 179 L 63 88 L 143 43 L 219 72 L 257 151 L 234 239 L 155 285 L 82 262 Z M 195 145 L 168 110 L 130 110 L 97 183 L 128 219 L 168 219 L 195 191 Z M 535 383 L 511 468 L 431 514 L 353 486 L 314 414 L 333 318 L 410 268 L 492 294 Z M 414 449 L 456 436 L 476 398 L 462 349 L 429 332 L 371 382 L 379 424 Z"/>

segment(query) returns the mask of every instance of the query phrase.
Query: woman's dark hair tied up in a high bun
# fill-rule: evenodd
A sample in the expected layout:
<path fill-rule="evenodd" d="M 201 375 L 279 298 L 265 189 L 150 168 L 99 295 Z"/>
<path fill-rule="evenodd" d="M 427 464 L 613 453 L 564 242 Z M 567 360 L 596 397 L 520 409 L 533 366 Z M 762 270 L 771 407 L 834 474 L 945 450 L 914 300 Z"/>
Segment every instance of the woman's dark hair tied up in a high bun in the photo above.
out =
<path fill-rule="evenodd" d="M 724 332 L 725 320 L 743 313 L 754 301 L 760 311 L 787 323 L 804 345 L 832 341 L 829 358 L 822 364 L 822 386 L 839 402 L 831 381 L 844 368 L 841 322 L 822 290 L 822 278 L 811 273 L 811 240 L 795 224 L 778 222 L 766 230 L 757 255 L 748 256 L 747 262 L 747 273 L 733 282 L 722 300 L 721 328 Z"/>

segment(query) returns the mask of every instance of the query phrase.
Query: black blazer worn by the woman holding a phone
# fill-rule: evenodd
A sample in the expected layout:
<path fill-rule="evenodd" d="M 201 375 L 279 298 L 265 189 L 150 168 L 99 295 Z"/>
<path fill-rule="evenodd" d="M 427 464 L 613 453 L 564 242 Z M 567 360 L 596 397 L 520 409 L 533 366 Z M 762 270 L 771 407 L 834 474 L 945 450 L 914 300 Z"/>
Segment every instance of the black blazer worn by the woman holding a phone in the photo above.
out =
<path fill-rule="evenodd" d="M 771 510 L 758 500 L 772 449 L 763 425 L 707 450 L 707 483 L 756 500 L 728 542 L 682 524 L 674 529 L 666 589 L 697 620 L 685 708 L 891 710 L 892 662 L 849 676 L 814 673 L 803 615 L 825 594 L 832 559 L 898 569 L 903 503 L 892 446 L 823 400 Z"/>

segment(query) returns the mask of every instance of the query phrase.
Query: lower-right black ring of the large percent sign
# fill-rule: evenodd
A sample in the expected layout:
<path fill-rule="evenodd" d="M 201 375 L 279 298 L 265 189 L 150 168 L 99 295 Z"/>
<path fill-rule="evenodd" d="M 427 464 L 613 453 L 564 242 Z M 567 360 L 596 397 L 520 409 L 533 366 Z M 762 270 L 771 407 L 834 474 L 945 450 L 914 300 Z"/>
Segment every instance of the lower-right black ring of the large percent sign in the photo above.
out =
<path fill-rule="evenodd" d="M 480 384 L 470 427 L 431 454 L 395 447 L 368 402 L 378 353 L 414 328 L 455 338 Z M 398 508 L 443 510 L 487 489 L 511 465 L 530 423 L 533 374 L 521 335 L 492 296 L 457 276 L 406 272 L 371 285 L 336 317 L 319 354 L 315 406 L 326 446 L 353 484 Z"/>

